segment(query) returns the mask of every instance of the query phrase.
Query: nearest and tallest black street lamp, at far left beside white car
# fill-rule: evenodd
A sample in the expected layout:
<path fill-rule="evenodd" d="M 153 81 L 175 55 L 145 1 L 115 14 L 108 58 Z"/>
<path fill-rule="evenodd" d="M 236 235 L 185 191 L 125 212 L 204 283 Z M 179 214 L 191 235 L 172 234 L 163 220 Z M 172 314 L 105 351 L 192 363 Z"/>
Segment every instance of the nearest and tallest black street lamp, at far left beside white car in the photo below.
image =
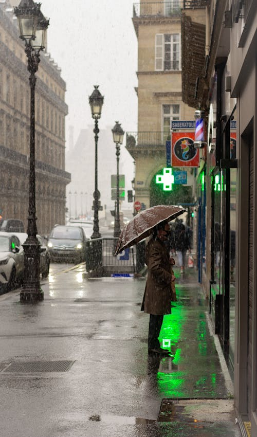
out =
<path fill-rule="evenodd" d="M 20 294 L 23 303 L 39 302 L 44 299 L 40 286 L 40 245 L 36 234 L 35 209 L 35 73 L 40 63 L 40 51 L 45 48 L 46 20 L 40 11 L 40 3 L 33 0 L 22 0 L 14 8 L 17 17 L 20 38 L 25 41 L 25 53 L 28 58 L 30 73 L 30 154 L 29 154 L 29 208 L 28 208 L 28 238 L 24 242 L 24 281 Z"/>

